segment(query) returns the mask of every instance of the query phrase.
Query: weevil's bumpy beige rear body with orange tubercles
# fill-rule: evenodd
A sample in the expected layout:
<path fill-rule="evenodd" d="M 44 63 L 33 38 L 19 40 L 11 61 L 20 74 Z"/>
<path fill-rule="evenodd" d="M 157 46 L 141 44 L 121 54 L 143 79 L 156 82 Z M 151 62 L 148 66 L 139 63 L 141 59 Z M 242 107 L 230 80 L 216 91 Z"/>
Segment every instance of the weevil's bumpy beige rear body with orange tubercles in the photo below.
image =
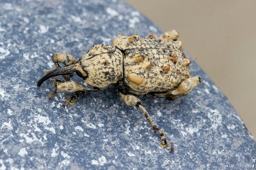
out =
<path fill-rule="evenodd" d="M 190 61 L 181 51 L 180 42 L 168 36 L 160 39 L 155 34 L 145 38 L 119 35 L 113 46 L 124 53 L 124 83 L 131 93 L 172 91 L 190 77 Z"/>

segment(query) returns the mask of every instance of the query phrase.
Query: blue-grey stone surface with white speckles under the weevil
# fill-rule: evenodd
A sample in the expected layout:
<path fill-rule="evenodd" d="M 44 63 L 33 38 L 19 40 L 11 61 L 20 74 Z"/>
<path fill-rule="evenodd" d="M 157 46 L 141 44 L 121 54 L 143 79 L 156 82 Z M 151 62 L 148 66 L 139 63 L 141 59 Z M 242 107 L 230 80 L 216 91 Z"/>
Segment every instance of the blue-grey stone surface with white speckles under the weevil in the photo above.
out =
<path fill-rule="evenodd" d="M 175 25 L 170 29 L 175 29 Z M 49 99 L 52 53 L 77 59 L 118 34 L 161 31 L 122 1 L 0 1 L 0 170 L 255 169 L 256 144 L 227 98 L 196 64 L 202 84 L 174 101 L 141 96 L 175 151 L 159 145 L 115 85 L 61 108 Z"/>

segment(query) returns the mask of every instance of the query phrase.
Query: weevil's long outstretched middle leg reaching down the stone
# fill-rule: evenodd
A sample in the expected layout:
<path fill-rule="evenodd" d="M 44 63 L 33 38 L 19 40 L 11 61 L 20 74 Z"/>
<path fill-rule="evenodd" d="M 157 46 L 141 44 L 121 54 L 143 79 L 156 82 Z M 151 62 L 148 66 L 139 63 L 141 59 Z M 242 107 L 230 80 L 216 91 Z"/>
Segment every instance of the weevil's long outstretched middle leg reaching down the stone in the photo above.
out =
<path fill-rule="evenodd" d="M 171 143 L 164 136 L 165 135 L 164 131 L 159 129 L 159 128 L 157 128 L 157 126 L 155 125 L 154 121 L 150 118 L 147 110 L 142 106 L 141 101 L 137 97 L 135 97 L 133 95 L 123 95 L 122 93 L 119 93 L 119 94 L 122 97 L 122 99 L 123 99 L 125 104 L 127 104 L 129 106 L 136 106 L 136 107 L 138 107 L 141 110 L 142 114 L 147 119 L 148 123 L 151 125 L 153 130 L 155 132 L 159 132 L 159 135 L 160 135 L 160 138 L 161 138 L 160 145 L 162 147 L 168 146 L 169 149 L 170 149 L 170 152 L 173 152 L 173 146 L 171 145 Z"/>

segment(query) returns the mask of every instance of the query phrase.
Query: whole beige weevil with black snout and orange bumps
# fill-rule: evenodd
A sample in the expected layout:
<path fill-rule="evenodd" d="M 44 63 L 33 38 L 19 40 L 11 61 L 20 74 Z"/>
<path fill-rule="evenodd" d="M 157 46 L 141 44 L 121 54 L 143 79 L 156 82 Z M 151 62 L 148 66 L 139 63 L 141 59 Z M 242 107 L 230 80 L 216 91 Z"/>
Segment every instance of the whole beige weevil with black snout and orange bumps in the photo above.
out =
<path fill-rule="evenodd" d="M 117 84 L 119 95 L 125 104 L 141 110 L 155 132 L 159 132 L 160 145 L 168 146 L 173 152 L 173 146 L 166 139 L 165 133 L 157 128 L 147 110 L 135 95 L 151 93 L 157 97 L 175 99 L 186 95 L 192 88 L 201 83 L 200 77 L 190 76 L 190 63 L 182 51 L 182 42 L 178 41 L 179 33 L 172 30 L 159 38 L 150 34 L 144 38 L 134 34 L 130 37 L 118 35 L 111 45 L 96 44 L 76 61 L 67 53 L 54 53 L 52 61 L 56 66 L 53 71 L 47 71 L 37 86 L 45 80 L 62 75 L 64 80 L 55 78 L 56 92 L 74 93 L 65 99 L 65 104 L 74 104 L 76 99 L 85 92 L 96 92 Z M 63 67 L 59 65 L 63 64 Z M 83 86 L 70 80 L 74 72 L 91 87 Z"/>

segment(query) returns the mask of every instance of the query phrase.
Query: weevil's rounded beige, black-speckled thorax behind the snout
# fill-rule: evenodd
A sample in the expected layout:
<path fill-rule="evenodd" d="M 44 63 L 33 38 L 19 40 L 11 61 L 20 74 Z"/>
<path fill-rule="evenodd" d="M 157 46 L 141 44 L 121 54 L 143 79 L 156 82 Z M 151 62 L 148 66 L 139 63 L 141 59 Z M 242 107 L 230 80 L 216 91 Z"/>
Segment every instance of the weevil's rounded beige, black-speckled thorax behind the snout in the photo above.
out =
<path fill-rule="evenodd" d="M 123 54 L 113 46 L 94 45 L 80 58 L 86 83 L 104 89 L 123 78 Z"/>

